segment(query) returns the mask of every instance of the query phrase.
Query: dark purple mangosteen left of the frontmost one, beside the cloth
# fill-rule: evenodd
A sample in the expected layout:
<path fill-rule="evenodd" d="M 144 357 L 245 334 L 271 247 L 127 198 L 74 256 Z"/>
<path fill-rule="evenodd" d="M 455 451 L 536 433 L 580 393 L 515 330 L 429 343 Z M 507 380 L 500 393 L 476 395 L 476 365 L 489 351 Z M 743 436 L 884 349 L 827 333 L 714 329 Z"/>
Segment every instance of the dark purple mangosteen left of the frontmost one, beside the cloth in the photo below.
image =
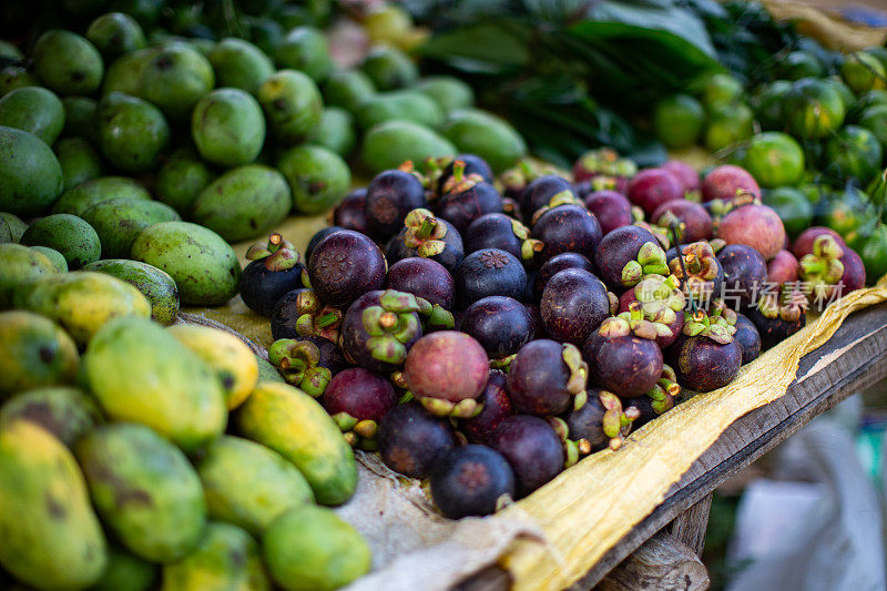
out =
<path fill-rule="evenodd" d="M 424 479 L 456 447 L 456 436 L 448 421 L 429 415 L 418 403 L 407 403 L 383 417 L 377 442 L 388 468 Z"/>

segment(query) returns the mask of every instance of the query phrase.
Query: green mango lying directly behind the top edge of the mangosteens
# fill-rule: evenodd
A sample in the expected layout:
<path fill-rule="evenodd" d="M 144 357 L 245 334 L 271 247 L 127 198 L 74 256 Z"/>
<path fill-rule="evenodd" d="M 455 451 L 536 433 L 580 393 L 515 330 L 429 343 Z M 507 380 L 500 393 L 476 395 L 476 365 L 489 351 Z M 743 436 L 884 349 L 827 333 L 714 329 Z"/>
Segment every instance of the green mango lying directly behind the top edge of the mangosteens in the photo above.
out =
<path fill-rule="evenodd" d="M 470 133 L 470 132 L 469 132 Z M 380 123 L 364 135 L 360 160 L 371 173 L 396 169 L 404 162 L 422 162 L 428 157 L 455 156 L 456 146 L 410 121 Z"/>

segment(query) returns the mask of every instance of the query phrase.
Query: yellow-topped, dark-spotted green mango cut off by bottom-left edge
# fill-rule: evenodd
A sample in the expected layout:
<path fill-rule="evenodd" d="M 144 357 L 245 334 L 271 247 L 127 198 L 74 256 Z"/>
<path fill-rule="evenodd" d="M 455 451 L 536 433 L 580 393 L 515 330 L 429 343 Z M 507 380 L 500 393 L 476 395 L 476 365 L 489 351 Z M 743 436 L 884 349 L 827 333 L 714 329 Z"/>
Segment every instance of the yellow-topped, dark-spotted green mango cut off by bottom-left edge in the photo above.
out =
<path fill-rule="evenodd" d="M 37 589 L 77 591 L 104 570 L 108 547 L 74 457 L 28 420 L 0 429 L 0 565 Z"/>

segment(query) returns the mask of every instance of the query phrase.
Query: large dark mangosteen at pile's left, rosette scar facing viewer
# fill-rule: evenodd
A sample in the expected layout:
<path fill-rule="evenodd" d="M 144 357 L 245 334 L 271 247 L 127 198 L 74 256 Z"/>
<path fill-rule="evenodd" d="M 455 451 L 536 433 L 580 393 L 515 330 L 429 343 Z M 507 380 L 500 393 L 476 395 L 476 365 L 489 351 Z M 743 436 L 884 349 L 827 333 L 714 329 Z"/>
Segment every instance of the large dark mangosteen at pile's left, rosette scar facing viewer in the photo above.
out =
<path fill-rule="evenodd" d="M 322 302 L 341 308 L 360 295 L 381 288 L 387 271 L 376 243 L 353 230 L 322 240 L 308 262 L 312 288 Z"/>

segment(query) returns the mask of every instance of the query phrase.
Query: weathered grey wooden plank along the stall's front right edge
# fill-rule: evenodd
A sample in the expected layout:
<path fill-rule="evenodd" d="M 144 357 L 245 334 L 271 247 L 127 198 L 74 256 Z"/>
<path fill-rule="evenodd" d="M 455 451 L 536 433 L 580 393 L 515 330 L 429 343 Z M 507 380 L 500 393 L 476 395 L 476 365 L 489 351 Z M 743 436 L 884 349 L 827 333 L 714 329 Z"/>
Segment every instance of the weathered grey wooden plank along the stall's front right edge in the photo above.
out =
<path fill-rule="evenodd" d="M 730 476 L 816 416 L 887 377 L 887 303 L 849 316 L 825 345 L 802 358 L 796 376 L 783 397 L 748 412 L 725 430 L 672 486 L 662 505 L 606 552 L 572 589 L 595 585 L 645 540 Z"/>

